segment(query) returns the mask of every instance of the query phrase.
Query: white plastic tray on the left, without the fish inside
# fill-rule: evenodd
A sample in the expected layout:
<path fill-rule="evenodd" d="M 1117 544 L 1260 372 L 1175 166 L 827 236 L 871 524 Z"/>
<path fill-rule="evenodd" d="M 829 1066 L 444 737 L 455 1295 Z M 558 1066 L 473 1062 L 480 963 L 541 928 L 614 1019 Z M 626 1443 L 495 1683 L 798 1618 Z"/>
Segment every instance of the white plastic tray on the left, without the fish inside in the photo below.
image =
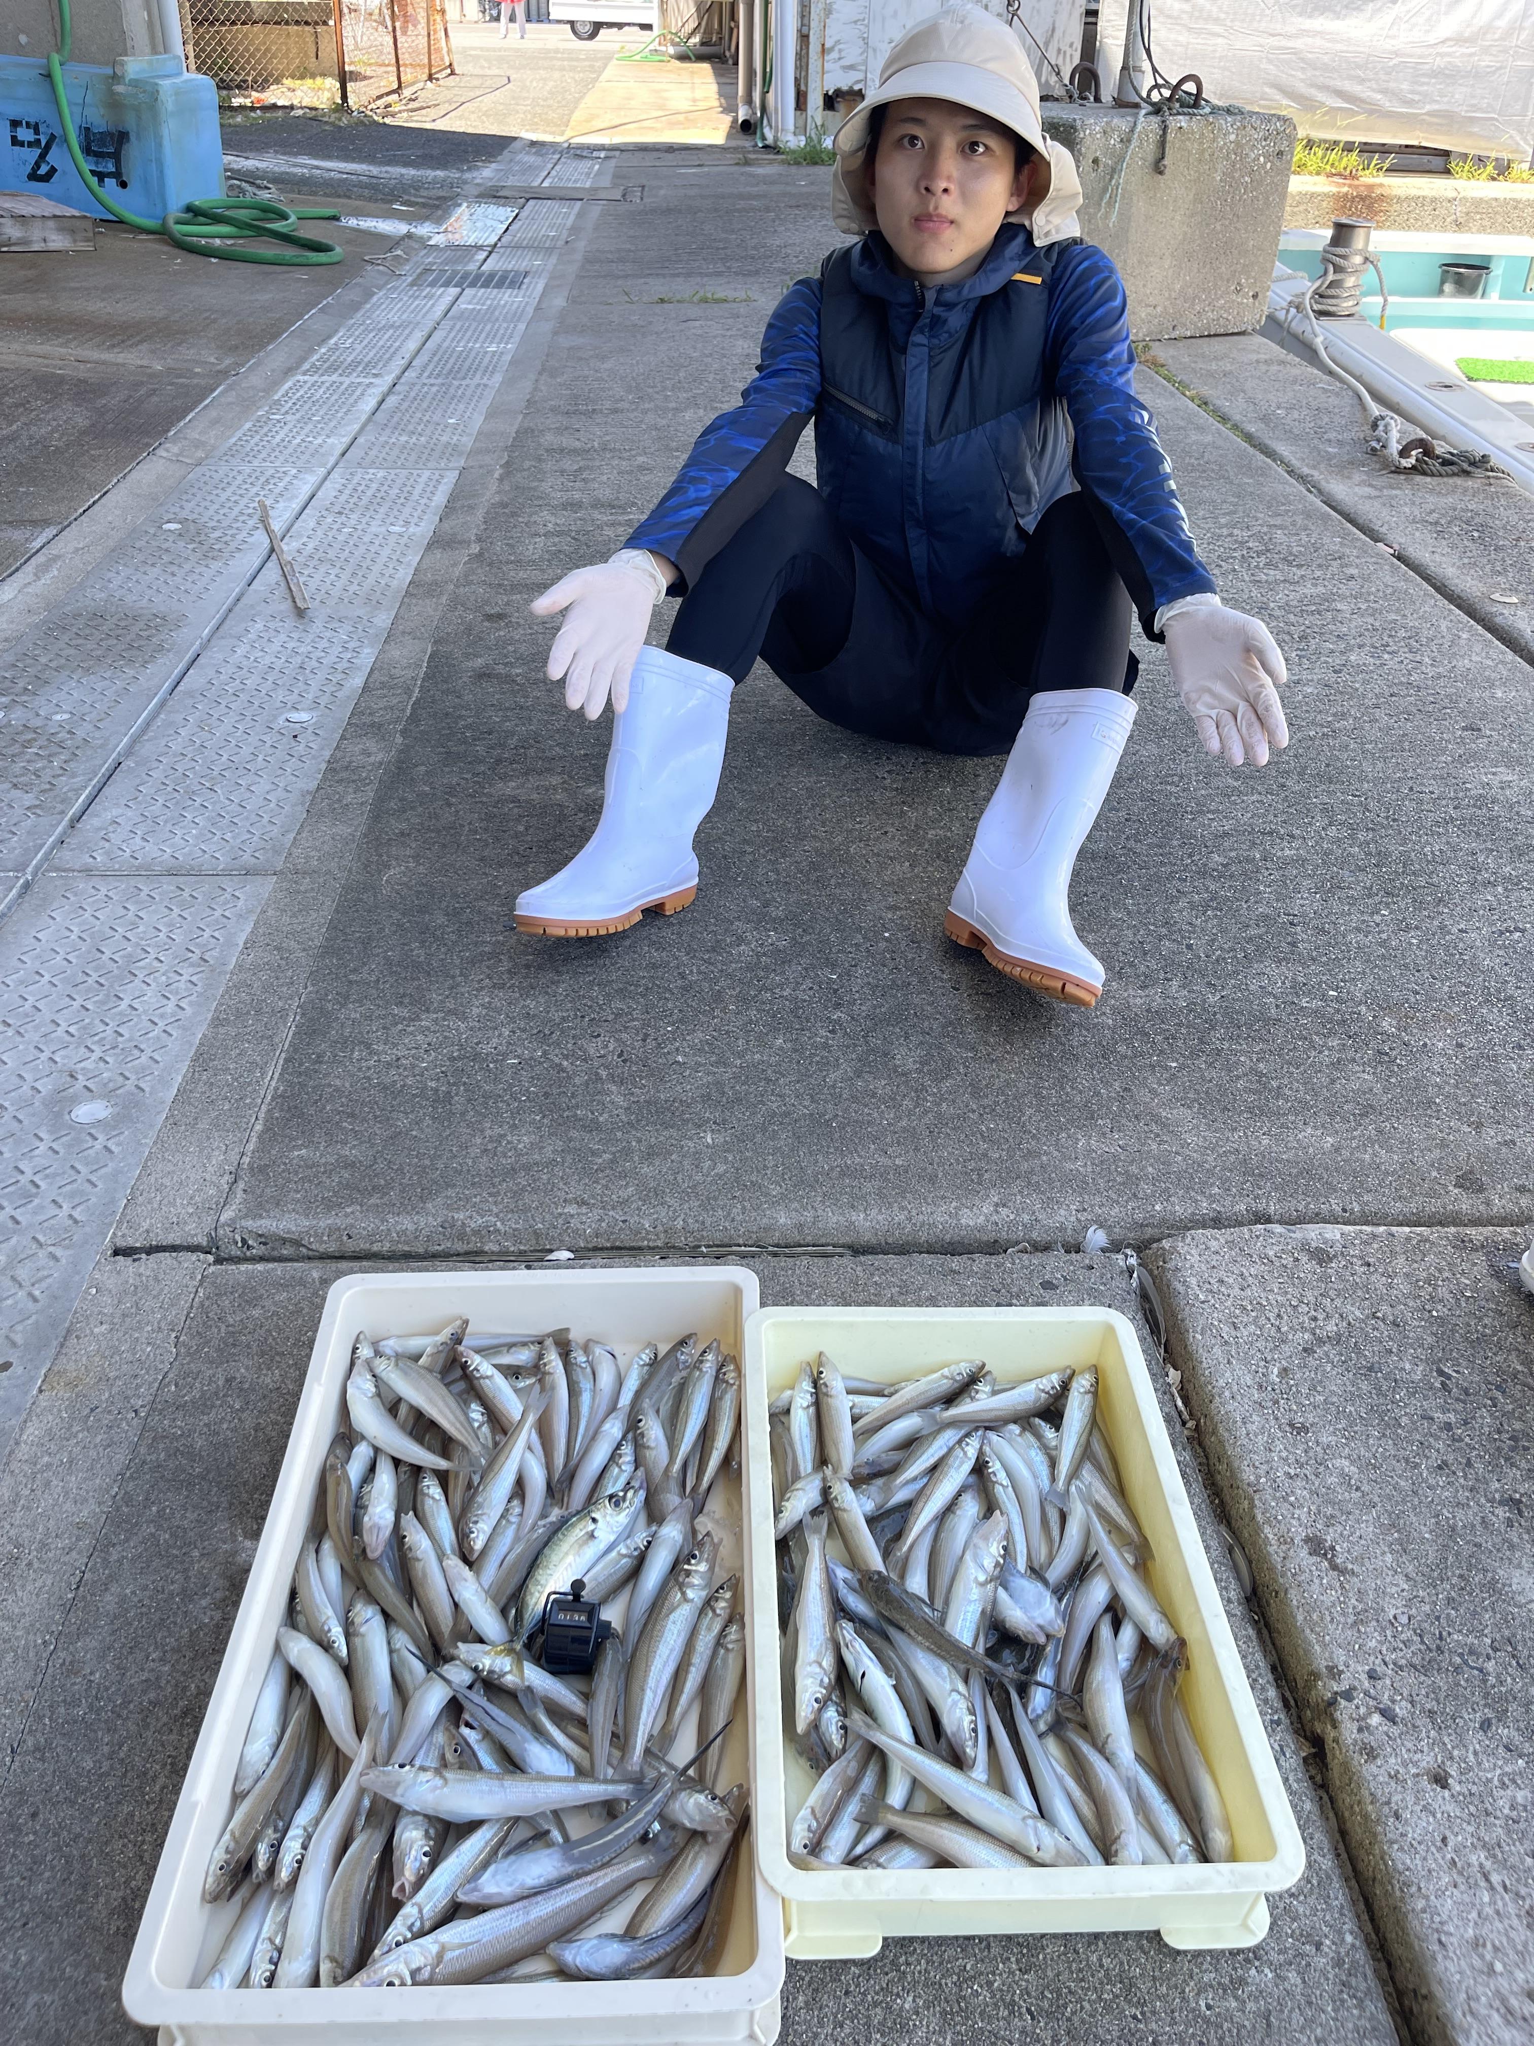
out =
<path fill-rule="evenodd" d="M 401 1273 L 337 1279 L 325 1299 L 282 1473 L 239 1602 L 219 1682 L 160 1856 L 123 1981 L 123 2007 L 157 2026 L 162 2046 L 636 2046 L 652 2040 L 755 2040 L 771 2046 L 783 1983 L 781 1905 L 740 1860 L 724 1968 L 702 1981 L 546 1983 L 483 1989 L 192 1989 L 217 1952 L 233 1905 L 202 1903 L 202 1874 L 229 1821 L 229 1794 L 256 1692 L 272 1657 L 292 1567 L 309 1526 L 325 1451 L 342 1424 L 358 1330 L 415 1336 L 466 1314 L 472 1328 L 520 1332 L 571 1326 L 642 1344 L 697 1330 L 740 1350 L 757 1305 L 757 1275 L 738 1266 L 650 1271 Z M 745 1573 L 747 1629 L 751 1575 Z M 730 1733 L 745 1768 L 747 1733 Z"/>

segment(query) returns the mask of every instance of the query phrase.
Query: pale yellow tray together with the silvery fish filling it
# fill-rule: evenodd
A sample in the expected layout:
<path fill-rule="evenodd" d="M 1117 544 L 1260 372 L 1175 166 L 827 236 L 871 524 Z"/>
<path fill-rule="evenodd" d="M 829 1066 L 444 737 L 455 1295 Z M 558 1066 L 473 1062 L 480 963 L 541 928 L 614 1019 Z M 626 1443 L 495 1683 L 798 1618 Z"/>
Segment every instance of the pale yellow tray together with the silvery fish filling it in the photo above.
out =
<path fill-rule="evenodd" d="M 1305 1850 L 1123 1316 L 763 1309 L 745 1428 L 792 1956 L 1264 1936 Z"/>

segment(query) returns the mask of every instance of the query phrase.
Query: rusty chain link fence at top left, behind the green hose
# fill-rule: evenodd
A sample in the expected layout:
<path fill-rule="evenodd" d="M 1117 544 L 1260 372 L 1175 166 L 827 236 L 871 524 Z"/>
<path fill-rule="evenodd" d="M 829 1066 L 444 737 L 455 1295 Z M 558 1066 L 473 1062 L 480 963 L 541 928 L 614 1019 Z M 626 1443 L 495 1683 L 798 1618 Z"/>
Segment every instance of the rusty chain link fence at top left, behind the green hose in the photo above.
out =
<path fill-rule="evenodd" d="M 452 70 L 444 0 L 178 0 L 186 65 L 231 106 L 368 106 Z"/>

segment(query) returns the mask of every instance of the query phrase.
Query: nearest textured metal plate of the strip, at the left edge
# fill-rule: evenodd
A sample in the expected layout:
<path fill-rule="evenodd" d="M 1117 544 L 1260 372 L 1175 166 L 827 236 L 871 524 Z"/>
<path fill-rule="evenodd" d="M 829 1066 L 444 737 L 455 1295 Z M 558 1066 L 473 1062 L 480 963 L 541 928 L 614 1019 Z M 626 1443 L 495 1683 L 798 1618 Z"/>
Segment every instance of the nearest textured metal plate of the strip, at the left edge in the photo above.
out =
<path fill-rule="evenodd" d="M 45 876 L 0 929 L 0 1457 L 268 888 Z"/>

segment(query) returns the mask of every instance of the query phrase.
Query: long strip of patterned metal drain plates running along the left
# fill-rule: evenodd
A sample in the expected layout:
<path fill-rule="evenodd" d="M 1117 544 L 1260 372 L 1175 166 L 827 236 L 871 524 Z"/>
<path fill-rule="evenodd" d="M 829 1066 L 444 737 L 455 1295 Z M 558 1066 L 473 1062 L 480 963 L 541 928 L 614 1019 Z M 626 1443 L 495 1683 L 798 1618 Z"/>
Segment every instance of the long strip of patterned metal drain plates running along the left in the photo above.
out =
<path fill-rule="evenodd" d="M 530 149 L 501 174 L 532 182 L 554 162 Z M 573 182 L 593 176 L 581 160 Z M 511 252 L 509 266 L 532 272 L 526 284 L 464 295 L 403 278 L 380 291 L 219 460 L 0 655 L 0 896 L 33 857 L 14 847 L 37 845 L 41 859 L 61 804 L 84 810 L 0 925 L 0 1359 L 12 1363 L 0 1375 L 0 1455 L 577 213 L 528 211 L 546 221 Z M 485 254 L 444 248 L 430 260 L 466 280 Z M 350 434 L 321 481 L 317 464 Z M 303 616 L 266 559 L 258 495 L 305 577 Z M 168 694 L 176 675 L 186 679 Z M 86 808 L 92 777 L 100 794 Z M 102 1105 L 100 1121 L 72 1121 Z"/>

